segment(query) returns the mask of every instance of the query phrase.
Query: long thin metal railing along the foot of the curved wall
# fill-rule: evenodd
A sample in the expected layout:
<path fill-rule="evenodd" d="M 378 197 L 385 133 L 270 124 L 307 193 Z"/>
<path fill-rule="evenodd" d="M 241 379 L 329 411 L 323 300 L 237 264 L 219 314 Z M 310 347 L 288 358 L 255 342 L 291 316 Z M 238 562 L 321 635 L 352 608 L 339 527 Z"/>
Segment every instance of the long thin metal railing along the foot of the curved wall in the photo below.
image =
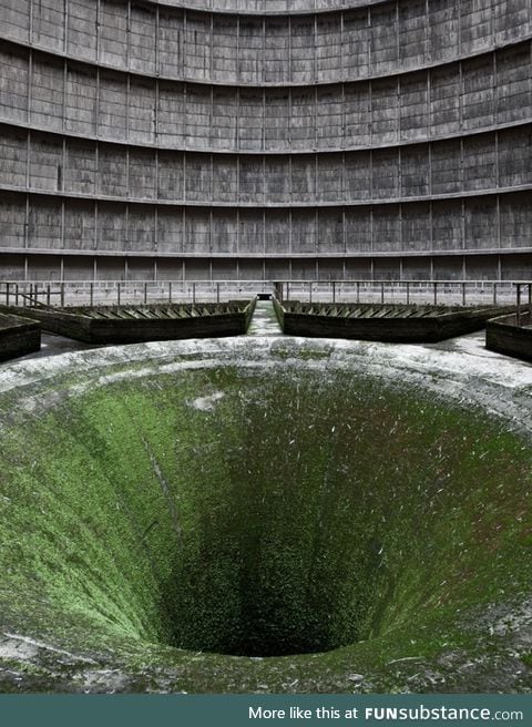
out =
<path fill-rule="evenodd" d="M 64 280 L 0 281 L 0 303 L 11 306 L 224 303 L 258 294 L 282 300 L 512 305 L 512 280 Z M 529 297 L 532 295 L 529 287 Z"/>

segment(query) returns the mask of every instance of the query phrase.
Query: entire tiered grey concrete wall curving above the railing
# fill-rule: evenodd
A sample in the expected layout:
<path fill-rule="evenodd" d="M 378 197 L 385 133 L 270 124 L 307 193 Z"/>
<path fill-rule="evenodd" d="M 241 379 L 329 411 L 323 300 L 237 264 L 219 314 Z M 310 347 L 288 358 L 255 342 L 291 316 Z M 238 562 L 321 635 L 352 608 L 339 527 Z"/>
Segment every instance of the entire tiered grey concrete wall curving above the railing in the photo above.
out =
<path fill-rule="evenodd" d="M 0 0 L 0 278 L 532 277 L 531 0 Z"/>

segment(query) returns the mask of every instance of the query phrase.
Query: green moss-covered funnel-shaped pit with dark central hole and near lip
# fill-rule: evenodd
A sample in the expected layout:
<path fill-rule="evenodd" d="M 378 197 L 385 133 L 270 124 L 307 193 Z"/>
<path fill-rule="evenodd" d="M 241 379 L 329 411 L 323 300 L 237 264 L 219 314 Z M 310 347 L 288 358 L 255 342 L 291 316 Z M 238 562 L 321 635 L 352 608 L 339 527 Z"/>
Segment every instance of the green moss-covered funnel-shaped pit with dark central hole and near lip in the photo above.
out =
<path fill-rule="evenodd" d="M 320 345 L 172 346 L 1 395 L 3 690 L 530 688 L 525 432 Z"/>

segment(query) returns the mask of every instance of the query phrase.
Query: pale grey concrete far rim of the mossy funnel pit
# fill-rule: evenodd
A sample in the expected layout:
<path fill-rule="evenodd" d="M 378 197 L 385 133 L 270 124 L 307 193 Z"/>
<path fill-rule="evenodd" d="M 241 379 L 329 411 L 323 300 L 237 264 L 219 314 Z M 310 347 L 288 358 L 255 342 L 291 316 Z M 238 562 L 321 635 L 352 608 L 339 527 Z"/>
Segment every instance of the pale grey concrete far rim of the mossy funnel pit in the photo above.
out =
<path fill-rule="evenodd" d="M 253 336 L 153 341 L 28 358 L 0 366 L 0 401 L 48 409 L 91 386 L 234 366 L 242 370 L 352 370 L 392 387 L 424 389 L 480 406 L 512 430 L 532 433 L 532 366 L 481 348 L 380 344 L 345 339 Z M 2 417 L 0 413 L 0 427 Z"/>

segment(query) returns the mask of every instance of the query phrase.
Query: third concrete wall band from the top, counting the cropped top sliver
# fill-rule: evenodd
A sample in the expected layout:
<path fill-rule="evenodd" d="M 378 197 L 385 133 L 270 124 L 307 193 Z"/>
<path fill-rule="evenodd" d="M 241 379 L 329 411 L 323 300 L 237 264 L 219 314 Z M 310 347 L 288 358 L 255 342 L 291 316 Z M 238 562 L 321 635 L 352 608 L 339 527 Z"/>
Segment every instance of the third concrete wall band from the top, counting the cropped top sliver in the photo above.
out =
<path fill-rule="evenodd" d="M 152 80 L 0 50 L 0 120 L 158 147 L 310 152 L 457 136 L 532 117 L 531 41 L 437 69 L 242 89 Z"/>

